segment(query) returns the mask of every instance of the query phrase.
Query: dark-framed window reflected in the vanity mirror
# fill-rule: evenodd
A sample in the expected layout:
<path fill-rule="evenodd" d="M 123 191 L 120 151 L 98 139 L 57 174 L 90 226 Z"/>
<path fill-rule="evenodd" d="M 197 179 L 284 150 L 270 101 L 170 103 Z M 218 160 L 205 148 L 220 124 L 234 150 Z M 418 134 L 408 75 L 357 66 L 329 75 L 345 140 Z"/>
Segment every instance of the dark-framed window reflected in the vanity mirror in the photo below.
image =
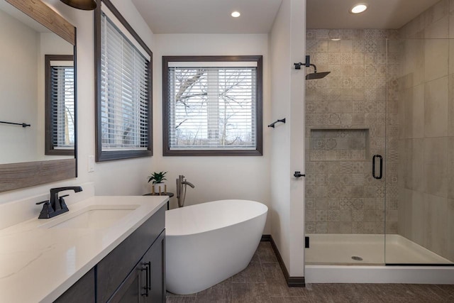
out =
<path fill-rule="evenodd" d="M 74 155 L 72 55 L 45 55 L 45 155 Z"/>

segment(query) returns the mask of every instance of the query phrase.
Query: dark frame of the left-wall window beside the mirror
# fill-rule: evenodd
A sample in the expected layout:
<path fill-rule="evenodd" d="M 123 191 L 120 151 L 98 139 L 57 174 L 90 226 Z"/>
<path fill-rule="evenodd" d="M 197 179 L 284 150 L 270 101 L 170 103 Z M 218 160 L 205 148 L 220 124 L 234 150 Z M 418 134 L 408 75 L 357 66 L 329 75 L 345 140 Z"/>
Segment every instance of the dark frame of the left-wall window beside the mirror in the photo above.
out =
<path fill-rule="evenodd" d="M 148 146 L 146 150 L 102 150 L 102 126 L 101 126 L 101 2 L 114 14 L 126 30 L 133 36 L 139 45 L 150 55 L 148 62 Z M 138 33 L 116 9 L 110 0 L 101 0 L 94 11 L 94 66 L 95 66 L 95 140 L 96 162 L 121 160 L 129 158 L 150 157 L 153 155 L 153 53 L 143 42 Z"/>

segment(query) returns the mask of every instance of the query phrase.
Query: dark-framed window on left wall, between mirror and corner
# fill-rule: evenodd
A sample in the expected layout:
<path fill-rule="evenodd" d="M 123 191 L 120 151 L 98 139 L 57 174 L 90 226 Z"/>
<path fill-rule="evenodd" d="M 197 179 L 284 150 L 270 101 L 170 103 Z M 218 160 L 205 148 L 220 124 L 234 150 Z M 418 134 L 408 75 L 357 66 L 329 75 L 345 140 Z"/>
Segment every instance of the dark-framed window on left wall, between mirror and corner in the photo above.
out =
<path fill-rule="evenodd" d="M 152 155 L 152 53 L 110 1 L 96 17 L 96 160 Z"/>

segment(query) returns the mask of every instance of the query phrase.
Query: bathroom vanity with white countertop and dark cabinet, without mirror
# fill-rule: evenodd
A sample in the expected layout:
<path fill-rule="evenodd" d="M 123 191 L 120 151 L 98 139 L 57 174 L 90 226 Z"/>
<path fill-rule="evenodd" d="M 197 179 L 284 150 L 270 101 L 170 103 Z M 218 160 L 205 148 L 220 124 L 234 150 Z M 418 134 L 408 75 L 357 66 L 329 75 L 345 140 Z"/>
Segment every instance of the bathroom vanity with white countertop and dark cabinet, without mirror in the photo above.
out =
<path fill-rule="evenodd" d="M 165 302 L 167 200 L 94 196 L 0 230 L 0 302 Z"/>

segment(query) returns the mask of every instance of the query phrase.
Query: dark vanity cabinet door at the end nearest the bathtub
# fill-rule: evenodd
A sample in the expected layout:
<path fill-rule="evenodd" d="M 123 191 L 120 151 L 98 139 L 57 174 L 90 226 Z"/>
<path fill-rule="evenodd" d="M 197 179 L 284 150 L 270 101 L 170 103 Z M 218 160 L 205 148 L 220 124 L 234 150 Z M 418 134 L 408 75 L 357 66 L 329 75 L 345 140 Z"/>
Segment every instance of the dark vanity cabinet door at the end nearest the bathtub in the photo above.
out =
<path fill-rule="evenodd" d="M 143 256 L 144 263 L 150 264 L 148 273 L 149 294 L 144 302 L 165 303 L 165 231 L 162 231 L 150 249 Z"/>

